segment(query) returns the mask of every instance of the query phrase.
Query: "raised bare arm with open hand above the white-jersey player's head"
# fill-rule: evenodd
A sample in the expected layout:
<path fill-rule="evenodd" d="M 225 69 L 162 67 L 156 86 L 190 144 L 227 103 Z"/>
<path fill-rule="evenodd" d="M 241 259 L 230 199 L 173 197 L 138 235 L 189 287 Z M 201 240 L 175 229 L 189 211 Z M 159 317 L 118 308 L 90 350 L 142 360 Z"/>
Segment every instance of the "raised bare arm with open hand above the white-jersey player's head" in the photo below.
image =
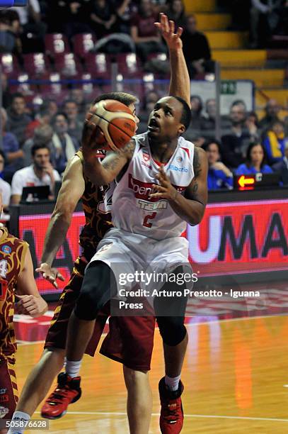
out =
<path fill-rule="evenodd" d="M 171 67 L 169 95 L 180 96 L 180 98 L 183 98 L 187 102 L 188 106 L 191 106 L 190 77 L 183 55 L 181 40 L 183 28 L 179 27 L 175 33 L 175 23 L 168 21 L 168 17 L 164 13 L 161 13 L 160 16 L 160 23 L 155 23 L 155 25 L 160 30 L 169 49 Z"/>

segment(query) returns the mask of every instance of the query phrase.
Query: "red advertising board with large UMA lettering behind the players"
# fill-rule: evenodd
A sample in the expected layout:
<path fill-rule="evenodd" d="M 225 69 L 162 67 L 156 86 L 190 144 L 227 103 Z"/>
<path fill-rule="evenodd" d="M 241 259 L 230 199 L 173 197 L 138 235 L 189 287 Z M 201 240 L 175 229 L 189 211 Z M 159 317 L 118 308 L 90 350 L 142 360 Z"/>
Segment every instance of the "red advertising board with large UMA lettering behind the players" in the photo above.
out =
<path fill-rule="evenodd" d="M 19 237 L 30 244 L 35 266 L 40 261 L 49 220 L 50 213 L 19 216 Z M 83 213 L 74 213 L 67 240 L 54 262 L 66 282 L 80 252 L 78 241 L 83 224 Z M 288 199 L 209 204 L 202 223 L 188 226 L 185 236 L 189 240 L 190 261 L 199 277 L 286 270 Z M 37 282 L 42 293 L 55 291 L 44 279 L 37 277 Z"/>

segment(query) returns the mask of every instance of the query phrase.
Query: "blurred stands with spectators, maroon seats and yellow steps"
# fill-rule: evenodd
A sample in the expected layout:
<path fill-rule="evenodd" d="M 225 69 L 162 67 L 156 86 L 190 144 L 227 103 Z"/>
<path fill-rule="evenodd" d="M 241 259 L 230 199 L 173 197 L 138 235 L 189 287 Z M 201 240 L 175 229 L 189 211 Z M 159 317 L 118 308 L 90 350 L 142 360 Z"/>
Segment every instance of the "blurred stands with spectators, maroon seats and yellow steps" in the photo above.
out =
<path fill-rule="evenodd" d="M 233 174 L 257 172 L 278 172 L 288 184 L 288 1 L 208 1 L 215 9 L 207 11 L 205 3 L 28 0 L 26 8 L 0 11 L 0 191 L 6 207 L 19 203 L 24 186 L 48 184 L 52 192 L 81 145 L 93 97 L 113 90 L 114 62 L 114 90 L 137 94 L 139 133 L 146 130 L 149 113 L 168 89 L 168 53 L 154 26 L 161 11 L 184 29 L 191 79 L 213 81 L 215 62 L 231 65 L 224 78 L 253 80 L 255 74 L 262 98 L 253 111 L 245 99 L 234 99 L 221 113 L 217 136 L 217 101 L 194 94 L 192 82 L 185 136 L 207 151 L 209 189 L 231 189 Z M 239 72 L 245 62 L 253 67 L 251 77 L 250 69 Z"/>

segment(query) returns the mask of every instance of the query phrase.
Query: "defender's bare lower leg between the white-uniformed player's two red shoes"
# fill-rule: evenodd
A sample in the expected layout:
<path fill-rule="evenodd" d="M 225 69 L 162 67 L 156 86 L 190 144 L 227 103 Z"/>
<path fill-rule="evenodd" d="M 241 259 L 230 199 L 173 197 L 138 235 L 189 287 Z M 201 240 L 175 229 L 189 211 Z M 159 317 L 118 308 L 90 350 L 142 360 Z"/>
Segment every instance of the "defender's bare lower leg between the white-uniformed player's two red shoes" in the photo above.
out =
<path fill-rule="evenodd" d="M 152 392 L 148 372 L 134 371 L 123 365 L 127 388 L 127 416 L 130 433 L 147 434 L 152 411 Z"/>

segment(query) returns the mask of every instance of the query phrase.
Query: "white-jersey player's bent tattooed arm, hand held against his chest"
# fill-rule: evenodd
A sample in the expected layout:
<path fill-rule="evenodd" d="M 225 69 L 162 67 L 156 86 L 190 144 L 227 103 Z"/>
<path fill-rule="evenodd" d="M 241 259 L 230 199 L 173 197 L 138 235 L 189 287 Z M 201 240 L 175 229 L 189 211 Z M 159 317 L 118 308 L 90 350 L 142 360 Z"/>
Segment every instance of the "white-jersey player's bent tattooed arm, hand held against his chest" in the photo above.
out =
<path fill-rule="evenodd" d="M 179 194 L 168 179 L 161 166 L 157 176 L 159 184 L 154 184 L 156 193 L 150 197 L 168 199 L 176 214 L 187 221 L 191 226 L 198 225 L 202 220 L 207 204 L 207 172 L 208 162 L 205 150 L 195 147 L 193 160 L 195 177 L 185 191 L 185 196 Z"/>

